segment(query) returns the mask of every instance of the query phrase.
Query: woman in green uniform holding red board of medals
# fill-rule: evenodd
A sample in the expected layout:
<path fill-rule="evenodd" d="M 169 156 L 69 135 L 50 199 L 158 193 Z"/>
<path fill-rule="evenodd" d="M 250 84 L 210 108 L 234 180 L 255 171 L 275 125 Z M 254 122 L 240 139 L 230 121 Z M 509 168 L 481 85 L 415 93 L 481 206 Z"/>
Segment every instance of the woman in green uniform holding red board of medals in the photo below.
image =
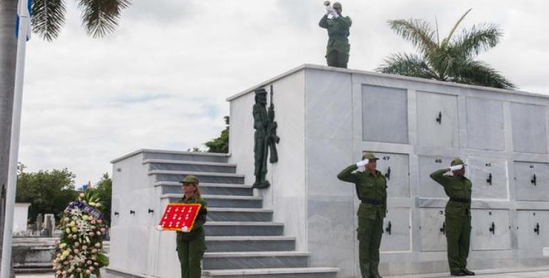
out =
<path fill-rule="evenodd" d="M 181 183 L 183 183 L 181 186 L 183 198 L 178 203 L 202 204 L 192 230 L 189 231 L 183 227 L 182 231 L 177 231 L 177 256 L 181 263 L 181 278 L 200 278 L 202 273 L 200 262 L 206 250 L 204 223 L 208 204 L 200 197 L 197 177 L 188 175 L 181 180 Z"/>

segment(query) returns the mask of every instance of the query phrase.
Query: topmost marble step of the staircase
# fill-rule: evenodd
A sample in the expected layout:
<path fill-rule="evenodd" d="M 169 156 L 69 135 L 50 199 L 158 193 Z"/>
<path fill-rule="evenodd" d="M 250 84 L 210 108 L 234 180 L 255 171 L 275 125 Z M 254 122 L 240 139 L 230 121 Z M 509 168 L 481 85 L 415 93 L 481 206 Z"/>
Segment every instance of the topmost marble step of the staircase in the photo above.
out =
<path fill-rule="evenodd" d="M 169 159 L 175 161 L 200 161 L 216 163 L 227 163 L 227 161 L 229 161 L 228 154 L 177 152 L 161 149 L 142 149 L 138 152 L 143 152 L 143 159 Z"/>

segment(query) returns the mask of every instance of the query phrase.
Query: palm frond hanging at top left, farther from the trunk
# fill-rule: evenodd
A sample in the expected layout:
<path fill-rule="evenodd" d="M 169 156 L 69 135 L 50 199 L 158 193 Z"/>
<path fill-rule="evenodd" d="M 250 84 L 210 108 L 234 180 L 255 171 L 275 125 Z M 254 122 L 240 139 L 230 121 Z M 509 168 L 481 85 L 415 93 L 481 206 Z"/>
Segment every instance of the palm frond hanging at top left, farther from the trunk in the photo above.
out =
<path fill-rule="evenodd" d="M 88 34 L 101 38 L 114 31 L 122 10 L 129 4 L 129 0 L 79 0 L 83 25 Z"/>

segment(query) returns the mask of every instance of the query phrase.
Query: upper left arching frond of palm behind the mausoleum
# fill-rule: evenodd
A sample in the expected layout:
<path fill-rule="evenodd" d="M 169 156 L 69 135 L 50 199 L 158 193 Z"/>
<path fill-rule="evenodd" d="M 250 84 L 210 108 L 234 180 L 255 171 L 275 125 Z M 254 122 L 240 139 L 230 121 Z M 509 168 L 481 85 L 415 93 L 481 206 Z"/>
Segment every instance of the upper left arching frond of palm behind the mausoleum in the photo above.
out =
<path fill-rule="evenodd" d="M 429 22 L 421 19 L 395 19 L 388 21 L 389 26 L 404 40 L 408 40 L 423 54 L 436 49 L 435 31 Z"/>

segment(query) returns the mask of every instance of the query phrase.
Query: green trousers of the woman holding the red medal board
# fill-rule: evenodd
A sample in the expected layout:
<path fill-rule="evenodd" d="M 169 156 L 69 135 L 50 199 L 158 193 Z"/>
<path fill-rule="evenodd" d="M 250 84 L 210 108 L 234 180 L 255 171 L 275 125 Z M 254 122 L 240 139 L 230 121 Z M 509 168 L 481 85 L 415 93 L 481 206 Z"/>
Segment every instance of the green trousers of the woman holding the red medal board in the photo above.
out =
<path fill-rule="evenodd" d="M 206 250 L 204 229 L 191 240 L 187 240 L 182 234 L 177 233 L 177 256 L 181 263 L 181 278 L 200 278 L 202 268 L 200 263 Z"/>

